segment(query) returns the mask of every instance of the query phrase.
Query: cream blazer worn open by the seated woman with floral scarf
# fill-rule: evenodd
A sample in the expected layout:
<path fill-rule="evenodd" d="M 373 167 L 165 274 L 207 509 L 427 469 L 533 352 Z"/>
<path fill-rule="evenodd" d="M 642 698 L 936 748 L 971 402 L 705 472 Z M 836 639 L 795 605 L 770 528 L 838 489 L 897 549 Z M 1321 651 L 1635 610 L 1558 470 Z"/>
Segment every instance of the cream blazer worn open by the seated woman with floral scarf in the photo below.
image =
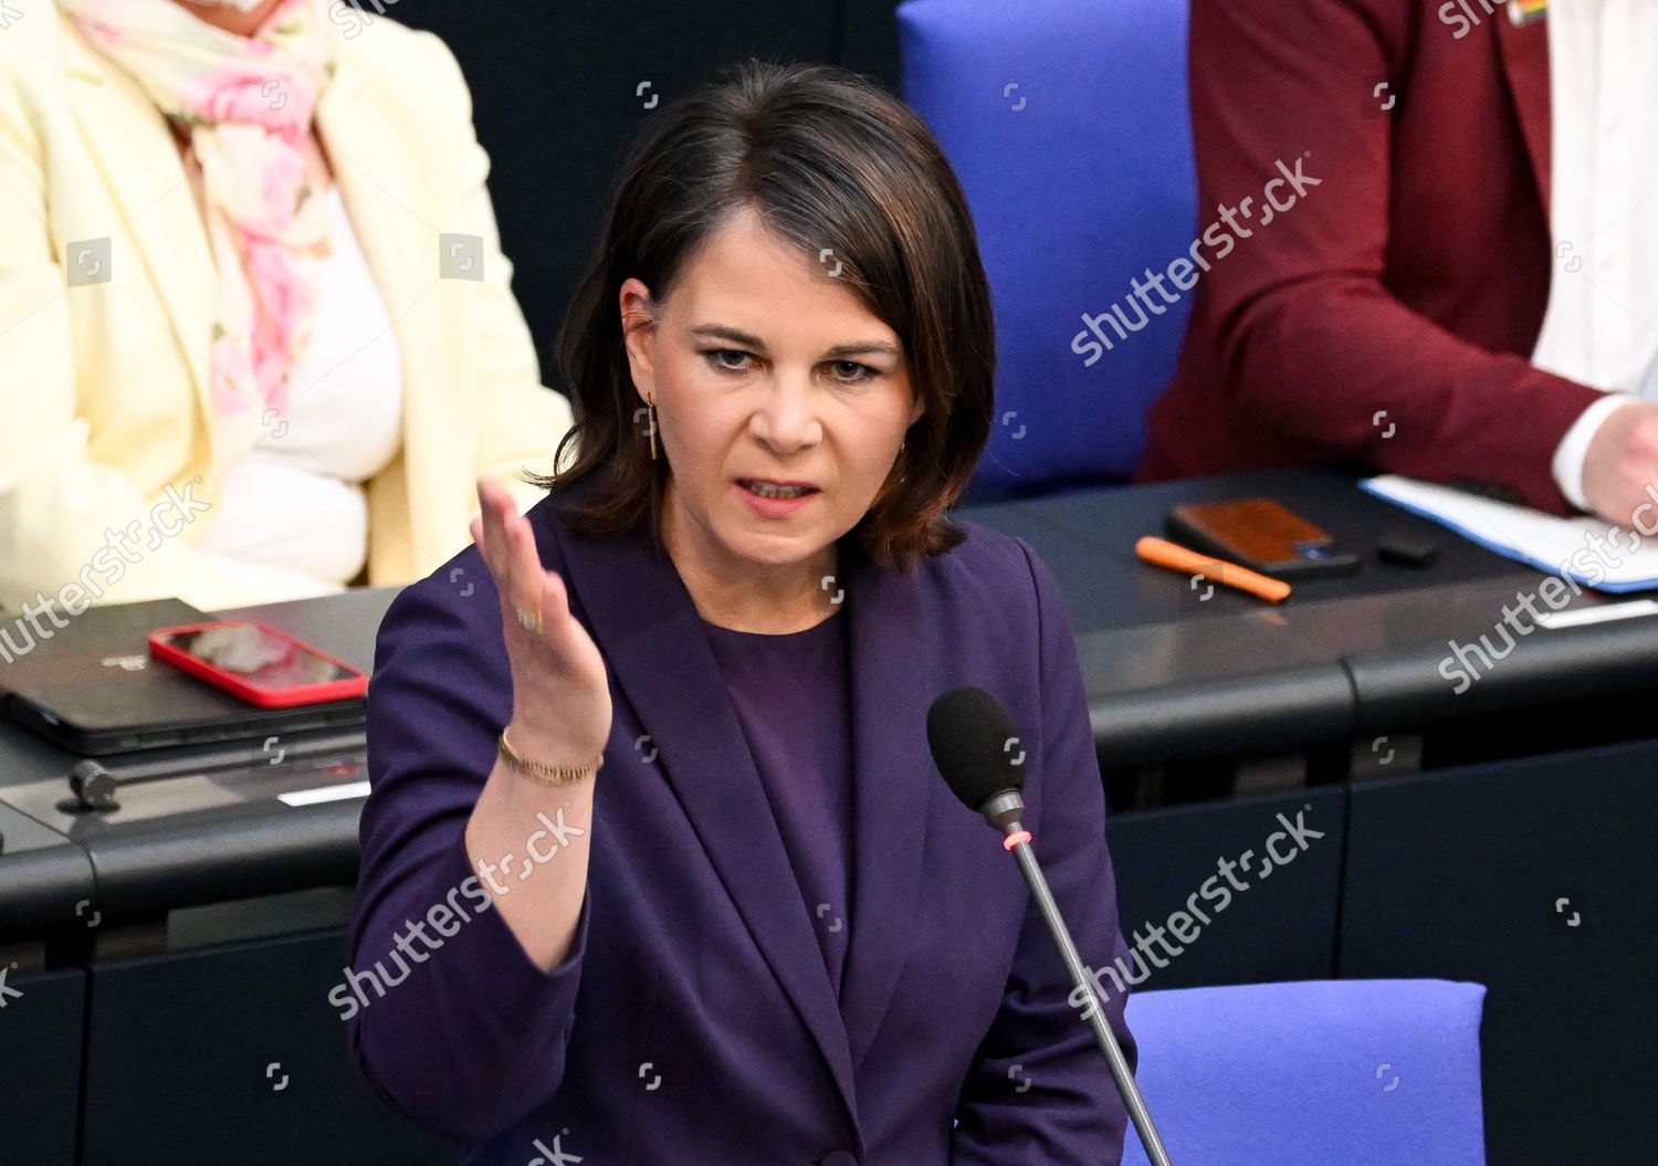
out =
<path fill-rule="evenodd" d="M 517 471 L 550 469 L 570 405 L 541 385 L 454 56 L 391 20 L 358 32 L 338 35 L 317 134 L 403 360 L 403 448 L 366 484 L 368 582 L 386 585 L 471 541 L 476 474 L 532 504 Z M 448 234 L 482 239 L 481 280 L 439 277 Z M 93 267 L 99 239 L 108 269 Z M 71 269 L 93 282 L 70 287 Z M 194 547 L 222 471 L 260 433 L 259 410 L 224 420 L 209 405 L 214 270 L 166 118 L 56 8 L 13 20 L 0 33 L 0 605 L 265 599 Z"/>

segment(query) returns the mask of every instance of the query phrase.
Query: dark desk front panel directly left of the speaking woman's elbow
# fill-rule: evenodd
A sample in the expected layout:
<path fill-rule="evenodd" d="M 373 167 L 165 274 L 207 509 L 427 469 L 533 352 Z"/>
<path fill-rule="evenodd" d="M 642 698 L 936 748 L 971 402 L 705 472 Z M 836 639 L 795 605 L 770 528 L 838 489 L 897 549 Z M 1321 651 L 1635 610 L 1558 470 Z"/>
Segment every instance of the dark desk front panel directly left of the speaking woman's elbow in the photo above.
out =
<path fill-rule="evenodd" d="M 95 969 L 80 1166 L 458 1161 L 358 1076 L 327 998 L 345 962 L 325 930 Z"/>

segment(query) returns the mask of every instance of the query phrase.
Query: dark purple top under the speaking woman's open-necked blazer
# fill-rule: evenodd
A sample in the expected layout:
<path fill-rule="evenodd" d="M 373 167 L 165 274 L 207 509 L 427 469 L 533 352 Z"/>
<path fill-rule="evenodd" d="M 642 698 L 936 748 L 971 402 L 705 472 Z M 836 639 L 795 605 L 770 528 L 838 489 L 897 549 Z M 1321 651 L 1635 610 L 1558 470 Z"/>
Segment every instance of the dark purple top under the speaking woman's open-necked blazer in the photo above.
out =
<path fill-rule="evenodd" d="M 846 619 L 783 635 L 703 627 L 839 998 L 856 889 Z"/>

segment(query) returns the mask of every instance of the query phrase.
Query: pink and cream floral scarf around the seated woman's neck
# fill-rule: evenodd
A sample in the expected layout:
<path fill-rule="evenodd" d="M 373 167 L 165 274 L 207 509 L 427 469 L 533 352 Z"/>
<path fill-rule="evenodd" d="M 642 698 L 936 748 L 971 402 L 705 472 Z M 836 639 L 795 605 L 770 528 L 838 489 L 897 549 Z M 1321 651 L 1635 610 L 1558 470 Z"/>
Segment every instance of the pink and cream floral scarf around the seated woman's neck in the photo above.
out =
<path fill-rule="evenodd" d="M 333 76 L 325 0 L 284 0 L 252 36 L 172 0 L 58 0 L 88 41 L 189 133 L 219 267 L 212 398 L 221 413 L 287 406 L 310 343 L 328 207 L 302 146 Z"/>

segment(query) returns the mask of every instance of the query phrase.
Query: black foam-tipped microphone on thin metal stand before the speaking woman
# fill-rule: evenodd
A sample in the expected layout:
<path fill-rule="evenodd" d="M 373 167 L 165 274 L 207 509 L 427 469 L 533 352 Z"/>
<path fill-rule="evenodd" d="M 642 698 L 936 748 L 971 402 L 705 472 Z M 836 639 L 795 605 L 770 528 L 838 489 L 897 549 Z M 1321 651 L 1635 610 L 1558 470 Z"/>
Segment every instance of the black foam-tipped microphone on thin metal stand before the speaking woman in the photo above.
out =
<path fill-rule="evenodd" d="M 1122 1105 L 1146 1148 L 1146 1158 L 1152 1166 L 1171 1166 L 1157 1126 L 1146 1110 L 1146 1098 L 1134 1083 L 1134 1071 L 1122 1055 L 1122 1047 L 1117 1045 L 1117 1035 L 1106 1023 L 1104 1002 L 1094 992 L 1094 982 L 1076 952 L 1071 930 L 1059 916 L 1059 904 L 1053 901 L 1048 879 L 1036 864 L 1031 833 L 1020 823 L 1025 814 L 1025 798 L 1020 793 L 1025 788 L 1025 745 L 1013 718 L 1001 702 L 983 688 L 973 685 L 952 688 L 927 710 L 927 748 L 932 750 L 933 765 L 938 766 L 945 785 L 962 804 L 983 814 L 1003 833 L 1001 844 L 1018 859 L 1025 882 L 1048 924 L 1048 934 L 1053 935 L 1059 959 L 1071 974 L 1071 984 L 1093 1003 L 1083 1012 L 1094 1030 L 1094 1043 L 1111 1066 L 1111 1078 L 1117 1083 Z"/>

